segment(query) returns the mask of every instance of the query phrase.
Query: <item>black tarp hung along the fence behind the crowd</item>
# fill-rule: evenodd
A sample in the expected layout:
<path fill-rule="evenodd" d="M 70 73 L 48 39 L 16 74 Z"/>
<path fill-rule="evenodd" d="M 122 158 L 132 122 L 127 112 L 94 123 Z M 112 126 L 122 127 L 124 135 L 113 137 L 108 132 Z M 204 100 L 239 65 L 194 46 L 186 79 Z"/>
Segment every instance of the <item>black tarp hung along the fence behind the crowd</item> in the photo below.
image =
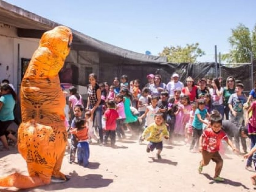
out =
<path fill-rule="evenodd" d="M 217 72 L 219 76 L 219 70 L 221 66 L 221 76 L 223 78 L 222 86 L 226 84 L 226 78 L 228 76 L 234 76 L 235 79 L 239 79 L 243 82 L 246 91 L 251 89 L 251 66 L 242 65 L 240 67 L 225 67 L 218 64 Z M 254 68 L 256 64 L 254 63 Z M 78 84 L 86 86 L 87 78 L 90 72 L 83 70 L 83 75 L 79 76 L 79 67 L 72 66 L 73 77 L 72 82 L 63 82 L 70 84 Z M 215 63 L 148 63 L 148 64 L 131 64 L 126 63 L 125 60 L 116 63 L 100 63 L 99 67 L 99 82 L 105 82 L 112 84 L 114 77 L 121 77 L 127 75 L 129 80 L 140 79 L 141 87 L 148 83 L 148 74 L 160 74 L 162 76 L 162 82 L 168 83 L 172 74 L 176 72 L 180 75 L 180 81 L 185 82 L 186 77 L 191 76 L 195 82 L 200 78 L 216 77 Z M 256 76 L 255 76 L 256 77 Z M 82 79 L 80 79 L 82 78 Z M 62 79 L 61 79 L 62 80 Z M 88 82 L 87 82 L 88 83 Z"/>

